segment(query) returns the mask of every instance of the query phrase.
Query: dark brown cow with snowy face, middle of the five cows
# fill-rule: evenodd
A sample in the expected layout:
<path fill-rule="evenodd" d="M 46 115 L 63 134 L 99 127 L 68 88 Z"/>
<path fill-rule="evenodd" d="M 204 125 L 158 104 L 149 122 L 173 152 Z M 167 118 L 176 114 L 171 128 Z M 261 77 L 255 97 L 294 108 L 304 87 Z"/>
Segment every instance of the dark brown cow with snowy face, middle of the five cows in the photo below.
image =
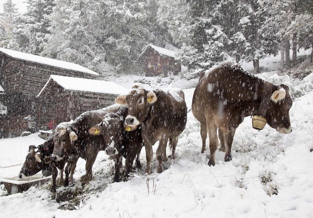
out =
<path fill-rule="evenodd" d="M 126 172 L 123 181 L 128 180 L 136 155 L 136 165 L 140 165 L 140 151 L 143 146 L 141 130 L 140 127 L 129 127 L 124 124 L 127 113 L 127 106 L 121 106 L 116 113 L 106 114 L 100 124 L 89 129 L 90 134 L 103 137 L 107 145 L 105 153 L 115 159 L 114 182 L 118 182 L 120 179 L 123 157 L 126 159 Z"/>

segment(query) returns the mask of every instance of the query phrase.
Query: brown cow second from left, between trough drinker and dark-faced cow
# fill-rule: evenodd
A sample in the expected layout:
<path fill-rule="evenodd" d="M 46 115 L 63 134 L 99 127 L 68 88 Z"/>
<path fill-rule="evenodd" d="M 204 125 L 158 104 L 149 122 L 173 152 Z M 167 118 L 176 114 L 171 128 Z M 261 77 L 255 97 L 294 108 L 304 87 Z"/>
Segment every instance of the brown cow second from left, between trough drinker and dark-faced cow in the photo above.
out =
<path fill-rule="evenodd" d="M 62 123 L 54 130 L 54 160 L 59 161 L 70 155 L 72 156 L 71 159 L 74 160 L 73 153 L 77 154 L 76 158 L 81 157 L 86 160 L 86 174 L 82 185 L 89 182 L 97 154 L 106 147 L 103 137 L 91 135 L 88 130 L 102 122 L 106 114 L 117 112 L 120 106 L 115 104 L 100 110 L 85 112 L 77 117 L 72 124 Z"/>

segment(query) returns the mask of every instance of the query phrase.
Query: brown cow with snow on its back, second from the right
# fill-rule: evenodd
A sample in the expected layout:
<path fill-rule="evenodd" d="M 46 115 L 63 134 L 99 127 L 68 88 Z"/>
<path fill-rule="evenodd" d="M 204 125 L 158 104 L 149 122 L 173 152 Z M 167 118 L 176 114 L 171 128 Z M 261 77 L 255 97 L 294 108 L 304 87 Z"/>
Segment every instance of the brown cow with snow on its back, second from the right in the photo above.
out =
<path fill-rule="evenodd" d="M 125 119 L 127 125 L 141 125 L 146 148 L 147 174 L 151 174 L 152 145 L 159 141 L 156 172 L 161 173 L 162 160 L 167 160 L 167 141 L 172 145 L 172 158 L 175 158 L 178 136 L 186 127 L 187 106 L 184 92 L 172 87 L 147 91 L 141 85 L 135 85 L 128 94 L 118 96 L 115 102 L 128 105 L 128 116 Z"/>

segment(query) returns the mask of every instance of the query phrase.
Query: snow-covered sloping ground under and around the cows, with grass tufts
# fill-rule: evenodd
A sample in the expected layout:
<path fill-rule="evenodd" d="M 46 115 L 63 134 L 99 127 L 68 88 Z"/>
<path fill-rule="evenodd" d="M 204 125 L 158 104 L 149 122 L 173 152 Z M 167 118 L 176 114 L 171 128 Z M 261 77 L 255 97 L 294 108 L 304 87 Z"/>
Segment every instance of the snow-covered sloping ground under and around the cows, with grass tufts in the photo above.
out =
<path fill-rule="evenodd" d="M 291 94 L 297 97 L 290 110 L 290 134 L 280 134 L 268 125 L 258 132 L 246 117 L 234 137 L 232 161 L 224 162 L 224 153 L 217 151 L 216 165 L 210 167 L 209 151 L 201 154 L 200 126 L 190 111 L 177 145 L 177 158 L 163 163 L 161 174 L 154 173 L 154 162 L 153 173 L 144 175 L 143 149 L 142 169 L 132 171 L 127 182 L 111 183 L 114 163 L 100 152 L 93 166 L 94 178 L 85 187 L 80 185 L 85 174 L 82 159 L 73 186 L 59 186 L 58 194 L 52 194 L 47 183 L 6 196 L 1 185 L 0 217 L 313 217 L 313 85 L 311 80 L 288 76 L 259 76 L 292 86 Z M 158 82 L 135 76 L 114 82 L 121 85 L 119 80 L 126 88 L 135 80 L 145 80 L 147 87 L 172 82 L 184 88 L 188 110 L 194 91 L 191 87 L 197 83 L 176 77 Z M 21 165 L 3 167 L 23 163 L 28 146 L 43 143 L 37 135 L 0 139 L 0 177 L 19 173 Z M 157 144 L 153 148 L 156 150 Z"/>

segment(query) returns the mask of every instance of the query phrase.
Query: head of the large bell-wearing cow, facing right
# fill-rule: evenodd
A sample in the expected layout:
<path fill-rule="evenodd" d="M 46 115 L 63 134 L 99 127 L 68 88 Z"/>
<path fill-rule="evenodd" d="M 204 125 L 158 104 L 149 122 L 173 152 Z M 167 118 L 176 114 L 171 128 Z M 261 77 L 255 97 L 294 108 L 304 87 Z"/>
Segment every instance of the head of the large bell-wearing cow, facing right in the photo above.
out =
<path fill-rule="evenodd" d="M 292 129 L 290 125 L 289 110 L 292 100 L 289 95 L 289 87 L 280 85 L 281 89 L 273 92 L 269 103 L 269 110 L 266 113 L 267 124 L 279 133 L 289 134 Z"/>

